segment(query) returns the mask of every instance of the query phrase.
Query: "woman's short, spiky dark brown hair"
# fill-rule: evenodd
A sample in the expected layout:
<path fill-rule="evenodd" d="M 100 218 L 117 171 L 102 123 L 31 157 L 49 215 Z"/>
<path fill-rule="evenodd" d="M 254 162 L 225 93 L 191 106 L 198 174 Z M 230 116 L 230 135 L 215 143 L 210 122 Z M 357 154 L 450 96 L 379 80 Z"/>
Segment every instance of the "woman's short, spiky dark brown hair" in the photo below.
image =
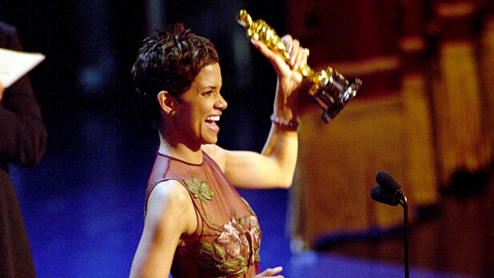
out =
<path fill-rule="evenodd" d="M 180 101 L 201 69 L 219 59 L 209 40 L 186 30 L 181 23 L 157 32 L 157 38 L 149 37 L 143 41 L 132 67 L 132 77 L 151 119 L 159 125 L 158 93 L 166 91 Z"/>

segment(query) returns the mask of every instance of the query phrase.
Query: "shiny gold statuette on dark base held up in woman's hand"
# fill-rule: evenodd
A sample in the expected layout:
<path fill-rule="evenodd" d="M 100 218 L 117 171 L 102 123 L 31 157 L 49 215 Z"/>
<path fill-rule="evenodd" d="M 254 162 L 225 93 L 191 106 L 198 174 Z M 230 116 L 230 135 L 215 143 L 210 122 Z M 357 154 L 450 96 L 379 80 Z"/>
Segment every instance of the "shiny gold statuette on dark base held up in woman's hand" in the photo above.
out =
<path fill-rule="evenodd" d="M 241 10 L 237 15 L 237 21 L 246 28 L 247 37 L 264 43 L 288 62 L 290 54 L 287 52 L 285 42 L 264 20 L 252 21 L 247 11 Z M 309 49 L 304 48 L 304 51 L 308 54 Z M 348 82 L 331 67 L 315 72 L 305 64 L 301 65 L 298 71 L 312 83 L 308 93 L 310 98 L 323 108 L 322 119 L 325 123 L 328 123 L 345 107 L 362 85 L 362 81 L 358 78 Z"/>

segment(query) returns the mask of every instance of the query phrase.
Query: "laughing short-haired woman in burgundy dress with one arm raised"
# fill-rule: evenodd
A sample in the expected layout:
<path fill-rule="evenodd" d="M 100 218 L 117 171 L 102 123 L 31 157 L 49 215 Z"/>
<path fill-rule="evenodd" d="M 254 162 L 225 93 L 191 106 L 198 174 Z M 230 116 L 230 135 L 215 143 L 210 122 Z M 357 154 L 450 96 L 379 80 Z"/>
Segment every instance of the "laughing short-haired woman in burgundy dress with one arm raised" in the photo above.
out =
<path fill-rule="evenodd" d="M 131 277 L 273 277 L 259 270 L 260 229 L 255 213 L 235 190 L 288 188 L 297 154 L 297 94 L 307 61 L 289 35 L 287 64 L 260 42 L 252 44 L 273 65 L 278 85 L 273 125 L 261 154 L 217 145 L 227 107 L 218 55 L 205 38 L 181 24 L 148 38 L 132 68 L 147 97 L 160 148 L 149 179 L 145 224 Z M 232 186 L 233 185 L 233 186 Z M 282 277 L 282 276 L 276 276 Z"/>

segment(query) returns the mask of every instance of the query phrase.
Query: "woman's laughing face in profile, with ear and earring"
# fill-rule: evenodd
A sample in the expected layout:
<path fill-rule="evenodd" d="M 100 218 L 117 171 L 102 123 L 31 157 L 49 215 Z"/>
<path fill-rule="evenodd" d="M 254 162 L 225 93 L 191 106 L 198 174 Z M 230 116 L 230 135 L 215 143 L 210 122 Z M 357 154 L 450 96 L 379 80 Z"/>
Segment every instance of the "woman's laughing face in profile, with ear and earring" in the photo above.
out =
<path fill-rule="evenodd" d="M 201 69 L 189 91 L 182 94 L 177 103 L 175 127 L 188 143 L 200 146 L 214 144 L 218 140 L 221 111 L 227 103 L 220 94 L 222 86 L 218 63 Z"/>

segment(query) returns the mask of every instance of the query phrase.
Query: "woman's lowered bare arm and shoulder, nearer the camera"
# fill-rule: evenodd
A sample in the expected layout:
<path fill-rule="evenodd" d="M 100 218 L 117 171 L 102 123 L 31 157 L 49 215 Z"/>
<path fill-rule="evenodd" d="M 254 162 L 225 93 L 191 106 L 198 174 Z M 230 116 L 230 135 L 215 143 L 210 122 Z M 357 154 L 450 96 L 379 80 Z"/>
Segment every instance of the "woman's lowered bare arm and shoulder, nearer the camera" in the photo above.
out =
<path fill-rule="evenodd" d="M 148 199 L 130 277 L 167 278 L 180 236 L 196 230 L 196 214 L 187 189 L 175 180 L 156 185 Z"/>

